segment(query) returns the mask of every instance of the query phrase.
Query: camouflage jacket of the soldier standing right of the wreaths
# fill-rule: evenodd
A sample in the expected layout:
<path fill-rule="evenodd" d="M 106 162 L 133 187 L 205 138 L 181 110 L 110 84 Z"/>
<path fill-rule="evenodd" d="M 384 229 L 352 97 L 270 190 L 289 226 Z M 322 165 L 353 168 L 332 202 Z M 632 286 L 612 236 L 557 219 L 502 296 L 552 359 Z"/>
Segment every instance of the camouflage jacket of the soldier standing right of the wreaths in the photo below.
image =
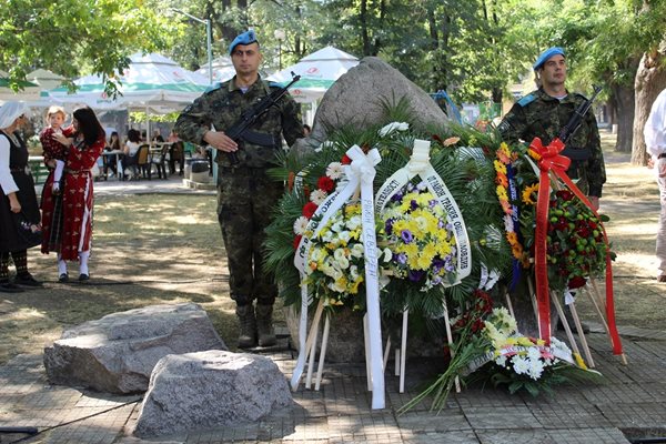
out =
<path fill-rule="evenodd" d="M 577 93 L 568 93 L 566 98 L 558 100 L 538 89 L 513 105 L 500 123 L 498 130 L 509 143 L 529 143 L 534 138 L 541 138 L 546 145 L 559 135 L 559 131 L 568 123 L 576 108 L 586 100 Z M 599 131 L 592 111 L 587 112 L 581 128 L 569 139 L 567 148 L 589 150 L 587 160 L 572 161 L 567 174 L 579 180 L 581 191 L 601 198 L 602 186 L 606 182 L 606 169 Z"/>

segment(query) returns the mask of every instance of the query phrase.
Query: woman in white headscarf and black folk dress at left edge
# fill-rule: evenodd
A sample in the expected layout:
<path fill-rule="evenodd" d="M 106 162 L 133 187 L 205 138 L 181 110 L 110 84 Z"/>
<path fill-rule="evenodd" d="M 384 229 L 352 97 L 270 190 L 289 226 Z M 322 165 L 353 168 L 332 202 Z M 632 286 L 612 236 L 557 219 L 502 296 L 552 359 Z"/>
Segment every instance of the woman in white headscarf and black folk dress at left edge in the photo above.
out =
<path fill-rule="evenodd" d="M 6 102 L 0 108 L 0 292 L 41 286 L 28 271 L 28 249 L 39 244 L 39 206 L 28 167 L 28 149 L 16 132 L 28 119 L 28 105 Z M 34 235 L 37 234 L 37 235 Z M 9 281 L 9 258 L 17 276 Z"/>

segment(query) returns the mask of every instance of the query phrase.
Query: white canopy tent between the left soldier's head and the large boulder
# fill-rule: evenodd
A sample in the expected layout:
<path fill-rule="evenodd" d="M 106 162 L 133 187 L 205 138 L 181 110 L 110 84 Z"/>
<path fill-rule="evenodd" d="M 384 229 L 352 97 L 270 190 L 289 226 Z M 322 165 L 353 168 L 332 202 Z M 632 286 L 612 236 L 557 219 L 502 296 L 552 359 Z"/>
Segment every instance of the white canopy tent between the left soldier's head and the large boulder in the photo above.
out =
<path fill-rule="evenodd" d="M 296 64 L 269 77 L 269 80 L 286 84 L 292 71 L 301 80 L 290 88 L 290 93 L 301 103 L 314 102 L 331 88 L 342 74 L 359 64 L 359 59 L 333 47 L 326 47 L 304 57 Z"/>

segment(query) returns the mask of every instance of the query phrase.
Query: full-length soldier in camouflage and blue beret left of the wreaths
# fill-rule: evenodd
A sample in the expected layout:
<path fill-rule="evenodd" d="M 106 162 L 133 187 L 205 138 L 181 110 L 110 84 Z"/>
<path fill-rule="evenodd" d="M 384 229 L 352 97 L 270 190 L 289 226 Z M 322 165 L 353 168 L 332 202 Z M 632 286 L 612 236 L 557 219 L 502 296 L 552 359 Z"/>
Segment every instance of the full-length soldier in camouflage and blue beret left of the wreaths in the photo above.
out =
<path fill-rule="evenodd" d="M 278 290 L 262 268 L 264 229 L 283 186 L 266 176 L 266 169 L 282 148 L 303 137 L 299 105 L 284 95 L 250 130 L 252 141 L 238 143 L 224 134 L 241 114 L 269 95 L 278 84 L 259 75 L 262 56 L 254 31 L 234 39 L 229 53 L 236 74 L 205 92 L 188 107 L 175 123 L 181 139 L 216 149 L 218 219 L 226 249 L 231 297 L 241 323 L 239 346 L 275 344 L 272 314 Z M 238 163 L 230 161 L 235 153 Z M 256 300 L 256 311 L 253 301 Z"/>

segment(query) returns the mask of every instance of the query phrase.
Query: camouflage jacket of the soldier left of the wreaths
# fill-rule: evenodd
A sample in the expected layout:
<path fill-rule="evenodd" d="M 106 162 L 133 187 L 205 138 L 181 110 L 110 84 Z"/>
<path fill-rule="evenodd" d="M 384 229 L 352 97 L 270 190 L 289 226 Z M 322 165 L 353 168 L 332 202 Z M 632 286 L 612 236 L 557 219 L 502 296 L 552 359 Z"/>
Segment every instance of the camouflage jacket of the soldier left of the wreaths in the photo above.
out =
<path fill-rule="evenodd" d="M 191 105 L 185 108 L 175 122 L 174 131 L 188 142 L 205 145 L 203 135 L 211 130 L 211 124 L 216 131 L 226 131 L 241 115 L 269 95 L 273 89 L 280 88 L 275 83 L 261 80 L 254 82 L 245 93 L 235 85 L 235 77 L 230 81 L 218 84 L 206 91 Z M 275 158 L 276 151 L 282 148 L 282 137 L 291 147 L 296 139 L 303 137 L 303 122 L 301 109 L 289 95 L 284 95 L 259 120 L 249 128 L 253 132 L 273 137 L 272 145 L 259 145 L 246 141 L 239 142 L 239 167 L 268 168 Z M 219 152 L 215 158 L 221 167 L 231 167 L 229 155 Z"/>

